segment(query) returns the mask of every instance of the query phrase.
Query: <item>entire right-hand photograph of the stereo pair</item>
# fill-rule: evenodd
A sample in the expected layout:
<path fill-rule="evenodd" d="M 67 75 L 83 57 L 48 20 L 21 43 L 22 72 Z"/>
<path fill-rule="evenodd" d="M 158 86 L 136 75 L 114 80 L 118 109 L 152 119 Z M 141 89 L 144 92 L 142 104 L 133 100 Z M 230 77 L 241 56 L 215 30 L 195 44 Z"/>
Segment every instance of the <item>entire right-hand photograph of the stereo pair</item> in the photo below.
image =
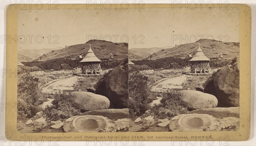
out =
<path fill-rule="evenodd" d="M 239 9 L 131 14 L 129 132 L 238 130 Z"/>

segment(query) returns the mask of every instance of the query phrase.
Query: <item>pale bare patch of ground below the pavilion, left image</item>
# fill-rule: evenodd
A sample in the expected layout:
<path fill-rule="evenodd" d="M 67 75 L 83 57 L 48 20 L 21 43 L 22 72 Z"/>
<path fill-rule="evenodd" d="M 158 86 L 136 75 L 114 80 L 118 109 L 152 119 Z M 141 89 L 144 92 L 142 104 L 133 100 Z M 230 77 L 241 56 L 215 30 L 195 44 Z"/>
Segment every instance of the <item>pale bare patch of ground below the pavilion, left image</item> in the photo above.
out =
<path fill-rule="evenodd" d="M 43 94 L 56 94 L 61 93 L 64 90 L 74 90 L 73 85 L 78 80 L 78 76 L 72 76 L 66 79 L 52 80 L 44 87 L 42 87 L 41 93 Z"/>

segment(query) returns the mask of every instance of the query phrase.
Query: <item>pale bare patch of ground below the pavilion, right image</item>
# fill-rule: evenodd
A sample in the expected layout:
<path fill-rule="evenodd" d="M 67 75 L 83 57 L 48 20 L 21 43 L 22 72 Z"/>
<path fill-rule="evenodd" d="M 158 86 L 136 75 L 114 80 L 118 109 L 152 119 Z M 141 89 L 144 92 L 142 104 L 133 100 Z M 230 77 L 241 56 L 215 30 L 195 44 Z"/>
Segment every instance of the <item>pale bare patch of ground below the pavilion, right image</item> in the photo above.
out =
<path fill-rule="evenodd" d="M 166 89 L 182 89 L 182 84 L 184 81 L 186 81 L 186 79 L 186 75 L 161 79 L 157 83 L 151 85 L 151 91 L 163 92 Z"/>

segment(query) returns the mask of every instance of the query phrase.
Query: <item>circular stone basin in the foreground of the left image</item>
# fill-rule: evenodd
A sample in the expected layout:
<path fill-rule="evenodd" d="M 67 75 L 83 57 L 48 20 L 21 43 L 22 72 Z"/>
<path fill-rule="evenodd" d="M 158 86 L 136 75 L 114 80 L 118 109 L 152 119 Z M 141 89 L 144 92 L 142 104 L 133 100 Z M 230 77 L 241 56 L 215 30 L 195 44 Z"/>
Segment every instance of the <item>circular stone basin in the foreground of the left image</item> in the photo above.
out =
<path fill-rule="evenodd" d="M 105 129 L 106 122 L 101 117 L 84 115 L 75 118 L 73 126 L 84 131 L 98 132 L 101 129 Z"/>

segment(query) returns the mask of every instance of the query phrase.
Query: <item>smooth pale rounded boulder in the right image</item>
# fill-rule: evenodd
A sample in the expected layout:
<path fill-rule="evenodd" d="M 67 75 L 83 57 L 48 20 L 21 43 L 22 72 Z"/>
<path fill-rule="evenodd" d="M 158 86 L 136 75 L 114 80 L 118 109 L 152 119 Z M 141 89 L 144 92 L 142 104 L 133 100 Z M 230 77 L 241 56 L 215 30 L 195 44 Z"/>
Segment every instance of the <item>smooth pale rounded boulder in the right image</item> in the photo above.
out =
<path fill-rule="evenodd" d="M 180 100 L 183 101 L 189 109 L 216 107 L 218 104 L 218 99 L 214 95 L 200 91 L 181 90 L 178 95 Z"/>

